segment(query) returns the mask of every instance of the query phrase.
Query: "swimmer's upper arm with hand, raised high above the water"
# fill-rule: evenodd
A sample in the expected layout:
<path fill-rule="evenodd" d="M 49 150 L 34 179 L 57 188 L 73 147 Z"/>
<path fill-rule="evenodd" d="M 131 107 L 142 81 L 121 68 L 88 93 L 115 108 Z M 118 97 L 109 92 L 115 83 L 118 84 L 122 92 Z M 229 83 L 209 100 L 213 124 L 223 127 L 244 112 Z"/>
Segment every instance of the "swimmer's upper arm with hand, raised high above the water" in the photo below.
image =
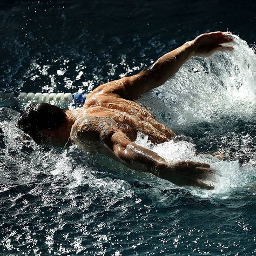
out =
<path fill-rule="evenodd" d="M 94 92 L 113 93 L 122 98 L 137 99 L 143 93 L 164 84 L 190 57 L 209 56 L 215 51 L 232 50 L 230 46 L 221 45 L 233 41 L 230 35 L 229 32 L 200 35 L 193 41 L 186 42 L 179 48 L 161 56 L 153 65 L 137 75 L 101 85 Z"/>

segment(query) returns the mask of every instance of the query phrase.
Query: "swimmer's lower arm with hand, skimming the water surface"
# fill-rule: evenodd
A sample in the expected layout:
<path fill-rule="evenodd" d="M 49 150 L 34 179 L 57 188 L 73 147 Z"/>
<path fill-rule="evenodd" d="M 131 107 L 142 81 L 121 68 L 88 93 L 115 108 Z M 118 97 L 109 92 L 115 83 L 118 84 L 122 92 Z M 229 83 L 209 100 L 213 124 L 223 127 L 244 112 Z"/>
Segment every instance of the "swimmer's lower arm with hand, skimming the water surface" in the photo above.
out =
<path fill-rule="evenodd" d="M 157 153 L 125 138 L 122 132 L 114 133 L 107 144 L 114 156 L 122 164 L 133 170 L 153 173 L 157 177 L 169 180 L 178 186 L 213 188 L 212 185 L 207 185 L 204 182 L 204 179 L 212 174 L 208 164 L 193 161 L 167 163 Z"/>

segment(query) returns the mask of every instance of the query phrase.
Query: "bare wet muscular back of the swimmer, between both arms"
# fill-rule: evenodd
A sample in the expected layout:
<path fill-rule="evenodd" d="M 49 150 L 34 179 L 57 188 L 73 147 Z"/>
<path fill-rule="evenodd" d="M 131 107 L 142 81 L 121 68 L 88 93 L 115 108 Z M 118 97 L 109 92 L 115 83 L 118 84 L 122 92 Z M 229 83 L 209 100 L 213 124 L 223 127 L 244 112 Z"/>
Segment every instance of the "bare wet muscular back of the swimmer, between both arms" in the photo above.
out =
<path fill-rule="evenodd" d="M 152 143 L 167 142 L 175 135 L 136 102 L 112 95 L 98 95 L 86 100 L 72 126 L 71 138 L 85 150 L 105 151 L 101 142 L 107 141 L 117 131 L 131 142 L 138 132 L 149 136 Z"/>

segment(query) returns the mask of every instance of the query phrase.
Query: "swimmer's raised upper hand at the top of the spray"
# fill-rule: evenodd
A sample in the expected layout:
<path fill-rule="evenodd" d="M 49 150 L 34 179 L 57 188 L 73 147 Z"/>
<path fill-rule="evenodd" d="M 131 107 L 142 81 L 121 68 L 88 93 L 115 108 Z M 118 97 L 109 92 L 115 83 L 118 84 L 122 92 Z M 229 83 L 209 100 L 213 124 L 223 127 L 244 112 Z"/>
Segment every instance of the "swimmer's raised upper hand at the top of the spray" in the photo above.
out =
<path fill-rule="evenodd" d="M 233 42 L 230 32 L 211 32 L 196 37 L 190 42 L 194 48 L 194 55 L 210 56 L 215 51 L 232 51 L 232 46 L 221 44 Z"/>

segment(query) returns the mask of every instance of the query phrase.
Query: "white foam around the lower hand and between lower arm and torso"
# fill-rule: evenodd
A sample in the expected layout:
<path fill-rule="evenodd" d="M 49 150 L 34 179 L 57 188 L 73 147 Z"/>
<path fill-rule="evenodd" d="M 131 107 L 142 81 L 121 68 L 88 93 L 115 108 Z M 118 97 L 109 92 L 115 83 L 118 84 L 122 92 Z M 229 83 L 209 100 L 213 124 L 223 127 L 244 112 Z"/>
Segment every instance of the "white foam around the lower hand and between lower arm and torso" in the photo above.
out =
<path fill-rule="evenodd" d="M 170 141 L 154 145 L 147 139 L 148 136 L 139 134 L 136 143 L 158 153 L 159 156 L 170 163 L 180 160 L 193 160 L 211 165 L 211 169 L 215 171 L 214 190 L 204 191 L 192 188 L 192 194 L 197 196 L 225 198 L 230 196 L 231 192 L 236 189 L 247 190 L 255 182 L 255 167 L 248 164 L 241 166 L 238 160 L 219 160 L 205 153 L 196 155 L 195 145 L 189 142 Z"/>

